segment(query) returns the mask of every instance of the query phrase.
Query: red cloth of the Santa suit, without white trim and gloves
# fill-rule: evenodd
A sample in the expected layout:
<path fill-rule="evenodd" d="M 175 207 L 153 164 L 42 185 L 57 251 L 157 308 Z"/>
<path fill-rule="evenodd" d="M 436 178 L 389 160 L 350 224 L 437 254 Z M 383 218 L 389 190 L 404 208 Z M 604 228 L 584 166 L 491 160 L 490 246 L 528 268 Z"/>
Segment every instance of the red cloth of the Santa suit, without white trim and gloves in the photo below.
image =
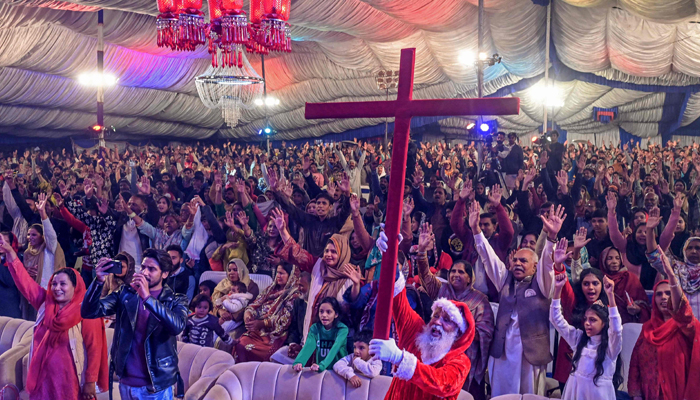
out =
<path fill-rule="evenodd" d="M 425 323 L 411 309 L 406 298 L 406 289 L 394 297 L 392 311 L 399 337 L 398 347 L 416 356 L 417 361 L 410 379 L 403 380 L 394 376 L 385 400 L 456 400 L 469 375 L 470 362 L 465 352 L 471 345 L 475 333 L 474 318 L 469 309 L 466 308 L 465 316 L 467 332 L 457 339 L 445 357 L 431 365 L 420 361 L 416 337 L 423 330 Z M 406 358 L 407 355 L 404 355 L 404 360 Z"/>

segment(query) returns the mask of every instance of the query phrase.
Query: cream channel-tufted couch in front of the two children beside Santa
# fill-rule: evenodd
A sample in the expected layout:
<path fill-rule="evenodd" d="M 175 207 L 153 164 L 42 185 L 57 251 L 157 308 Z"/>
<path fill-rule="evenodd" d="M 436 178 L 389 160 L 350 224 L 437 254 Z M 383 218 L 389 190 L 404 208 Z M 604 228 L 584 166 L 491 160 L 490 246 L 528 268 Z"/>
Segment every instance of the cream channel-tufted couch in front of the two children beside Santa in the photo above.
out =
<path fill-rule="evenodd" d="M 354 388 L 333 371 L 297 373 L 291 365 L 249 362 L 221 374 L 204 400 L 383 400 L 391 383 L 386 376 L 360 379 Z M 462 391 L 459 400 L 473 398 Z"/>

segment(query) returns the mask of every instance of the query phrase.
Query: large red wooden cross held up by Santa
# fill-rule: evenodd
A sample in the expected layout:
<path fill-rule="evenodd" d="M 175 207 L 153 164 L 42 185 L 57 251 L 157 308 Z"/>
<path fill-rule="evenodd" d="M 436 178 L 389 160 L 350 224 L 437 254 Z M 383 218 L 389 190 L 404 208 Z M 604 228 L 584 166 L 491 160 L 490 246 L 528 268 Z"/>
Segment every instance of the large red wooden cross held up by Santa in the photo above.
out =
<path fill-rule="evenodd" d="M 413 100 L 415 61 L 416 49 L 401 50 L 398 95 L 394 101 L 306 103 L 306 119 L 395 117 L 394 148 L 391 153 L 391 176 L 385 224 L 389 248 L 382 257 L 377 312 L 374 320 L 374 337 L 378 339 L 388 339 L 391 326 L 411 117 L 511 115 L 518 114 L 520 111 L 518 98 Z M 406 238 L 408 239 L 410 238 Z"/>

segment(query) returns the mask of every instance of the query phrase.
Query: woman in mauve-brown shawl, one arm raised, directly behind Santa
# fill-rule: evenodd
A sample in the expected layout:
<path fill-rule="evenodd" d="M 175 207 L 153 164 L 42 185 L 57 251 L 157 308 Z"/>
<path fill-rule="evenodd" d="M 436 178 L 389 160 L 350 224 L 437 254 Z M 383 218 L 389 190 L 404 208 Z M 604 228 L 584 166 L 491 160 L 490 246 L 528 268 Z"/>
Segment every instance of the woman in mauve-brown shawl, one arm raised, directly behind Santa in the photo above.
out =
<path fill-rule="evenodd" d="M 466 351 L 472 367 L 464 388 L 469 390 L 475 400 L 485 399 L 484 374 L 494 331 L 493 310 L 488 297 L 474 289 L 474 271 L 469 263 L 457 261 L 452 264 L 448 283 L 442 283 L 430 272 L 427 251 L 433 248 L 434 241 L 432 227 L 424 223 L 420 229 L 416 256 L 421 285 L 431 299 L 445 298 L 461 301 L 471 311 L 477 334 Z"/>

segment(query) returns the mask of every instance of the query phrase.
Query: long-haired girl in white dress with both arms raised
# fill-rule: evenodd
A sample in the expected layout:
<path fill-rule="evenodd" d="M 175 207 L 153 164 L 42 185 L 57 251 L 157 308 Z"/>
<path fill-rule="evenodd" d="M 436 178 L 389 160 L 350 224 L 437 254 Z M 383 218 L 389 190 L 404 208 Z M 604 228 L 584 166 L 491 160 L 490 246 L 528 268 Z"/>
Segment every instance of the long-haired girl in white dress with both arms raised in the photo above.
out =
<path fill-rule="evenodd" d="M 556 257 L 555 257 L 556 258 Z M 615 304 L 615 283 L 604 278 L 609 307 L 594 303 L 583 321 L 584 331 L 569 325 L 561 311 L 561 292 L 566 274 L 555 276 L 550 321 L 566 342 L 575 349 L 573 368 L 562 399 L 615 400 L 615 388 L 622 382 L 618 356 L 622 351 L 622 318 Z"/>

